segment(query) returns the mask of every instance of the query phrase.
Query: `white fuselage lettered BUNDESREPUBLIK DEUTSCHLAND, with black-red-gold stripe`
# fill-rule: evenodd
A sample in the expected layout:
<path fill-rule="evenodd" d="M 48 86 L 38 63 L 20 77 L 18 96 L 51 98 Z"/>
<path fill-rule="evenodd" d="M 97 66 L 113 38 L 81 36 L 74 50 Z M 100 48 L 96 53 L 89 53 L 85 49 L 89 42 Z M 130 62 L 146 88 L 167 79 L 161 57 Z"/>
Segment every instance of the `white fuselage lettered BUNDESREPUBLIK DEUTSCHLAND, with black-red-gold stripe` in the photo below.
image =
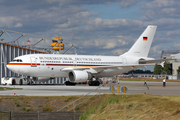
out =
<path fill-rule="evenodd" d="M 104 66 L 122 66 L 138 64 L 139 58 L 121 56 L 90 56 L 90 55 L 58 55 L 58 54 L 30 54 L 17 57 L 7 67 L 15 72 L 34 77 L 67 77 L 68 72 L 64 68 L 91 68 Z M 18 61 L 17 61 L 18 60 Z M 96 77 L 118 75 L 129 70 L 118 67 L 106 69 L 96 74 Z"/>

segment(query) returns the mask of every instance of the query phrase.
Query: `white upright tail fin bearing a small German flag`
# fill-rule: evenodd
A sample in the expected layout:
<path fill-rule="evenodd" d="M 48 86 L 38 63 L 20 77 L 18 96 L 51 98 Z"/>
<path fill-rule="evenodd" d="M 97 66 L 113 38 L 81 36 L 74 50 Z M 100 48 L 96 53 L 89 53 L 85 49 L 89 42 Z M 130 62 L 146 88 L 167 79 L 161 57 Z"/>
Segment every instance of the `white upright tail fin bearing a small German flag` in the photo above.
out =
<path fill-rule="evenodd" d="M 123 55 L 147 57 L 156 32 L 157 26 L 149 25 L 134 43 L 131 49 Z"/>

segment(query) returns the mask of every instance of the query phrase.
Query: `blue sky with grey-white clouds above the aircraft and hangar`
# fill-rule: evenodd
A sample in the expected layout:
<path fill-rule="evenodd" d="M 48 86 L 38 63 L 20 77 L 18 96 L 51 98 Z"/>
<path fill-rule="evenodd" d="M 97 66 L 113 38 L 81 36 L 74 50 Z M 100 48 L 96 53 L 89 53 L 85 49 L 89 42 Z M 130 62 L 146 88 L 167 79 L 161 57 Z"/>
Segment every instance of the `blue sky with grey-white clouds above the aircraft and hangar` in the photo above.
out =
<path fill-rule="evenodd" d="M 77 54 L 117 56 L 156 25 L 149 57 L 160 58 L 162 50 L 179 50 L 179 6 L 179 0 L 0 0 L 0 28 L 48 38 L 61 34 L 76 44 Z"/>

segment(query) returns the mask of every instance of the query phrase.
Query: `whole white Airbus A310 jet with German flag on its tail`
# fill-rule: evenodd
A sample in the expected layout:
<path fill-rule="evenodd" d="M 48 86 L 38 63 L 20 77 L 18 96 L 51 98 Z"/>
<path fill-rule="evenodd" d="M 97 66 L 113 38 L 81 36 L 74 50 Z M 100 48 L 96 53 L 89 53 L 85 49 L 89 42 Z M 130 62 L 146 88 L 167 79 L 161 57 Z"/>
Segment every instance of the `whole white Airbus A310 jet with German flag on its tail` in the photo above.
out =
<path fill-rule="evenodd" d="M 14 58 L 7 67 L 39 82 L 55 77 L 67 77 L 69 82 L 66 82 L 66 85 L 89 80 L 90 86 L 98 86 L 99 78 L 119 75 L 136 68 L 145 68 L 149 63 L 165 61 L 147 57 L 156 28 L 157 26 L 147 26 L 130 50 L 120 56 L 29 54 Z"/>

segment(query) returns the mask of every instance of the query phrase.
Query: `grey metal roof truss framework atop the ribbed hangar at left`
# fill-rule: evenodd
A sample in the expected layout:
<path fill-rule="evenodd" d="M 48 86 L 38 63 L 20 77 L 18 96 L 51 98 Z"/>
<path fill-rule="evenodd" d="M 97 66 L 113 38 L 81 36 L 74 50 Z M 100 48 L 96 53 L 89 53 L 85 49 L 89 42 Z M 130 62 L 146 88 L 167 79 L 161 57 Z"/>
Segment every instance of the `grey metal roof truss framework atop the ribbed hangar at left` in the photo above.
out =
<path fill-rule="evenodd" d="M 29 49 L 33 49 L 33 50 L 40 50 L 40 51 L 47 52 L 47 53 L 53 53 L 52 49 L 50 48 L 49 45 L 47 45 L 45 43 L 45 41 L 48 41 L 48 40 L 56 41 L 56 39 L 41 37 L 41 36 L 37 36 L 37 35 L 21 33 L 21 32 L 16 32 L 16 31 L 11 31 L 11 30 L 5 30 L 5 29 L 1 29 L 1 28 L 0 28 L 0 30 L 1 30 L 0 41 L 3 43 L 16 45 L 16 46 L 24 47 L 24 48 L 29 48 Z M 27 41 L 26 41 L 26 39 L 28 37 L 38 38 L 40 40 L 37 40 L 36 42 L 28 45 Z M 8 40 L 7 40 L 7 38 L 8 38 Z M 37 47 L 37 45 L 40 43 L 42 44 L 41 46 L 43 46 L 43 47 Z M 67 51 L 69 51 L 71 48 L 74 48 L 74 52 L 71 54 L 76 54 L 77 47 L 74 43 L 67 42 L 67 41 L 63 41 L 63 43 L 69 44 L 71 47 L 68 48 L 65 52 L 62 52 L 61 54 L 68 53 Z"/>

